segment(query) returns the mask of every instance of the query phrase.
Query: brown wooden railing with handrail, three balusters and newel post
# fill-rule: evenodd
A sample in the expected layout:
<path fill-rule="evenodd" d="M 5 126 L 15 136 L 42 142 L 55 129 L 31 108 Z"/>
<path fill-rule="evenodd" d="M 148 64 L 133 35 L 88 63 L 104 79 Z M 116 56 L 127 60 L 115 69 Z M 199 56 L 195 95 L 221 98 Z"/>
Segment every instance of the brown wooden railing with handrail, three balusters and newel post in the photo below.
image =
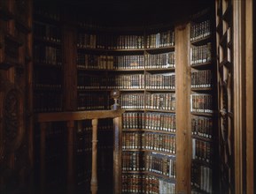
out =
<path fill-rule="evenodd" d="M 74 190 L 74 122 L 91 120 L 92 123 L 92 171 L 90 190 L 92 194 L 97 193 L 97 122 L 99 119 L 112 118 L 114 126 L 113 142 L 113 190 L 114 193 L 121 193 L 121 114 L 124 111 L 117 110 L 92 110 L 77 112 L 40 113 L 35 117 L 35 122 L 40 123 L 40 146 L 41 166 L 40 183 L 41 191 L 45 187 L 45 138 L 47 123 L 66 122 L 67 127 L 67 190 L 73 193 Z"/>

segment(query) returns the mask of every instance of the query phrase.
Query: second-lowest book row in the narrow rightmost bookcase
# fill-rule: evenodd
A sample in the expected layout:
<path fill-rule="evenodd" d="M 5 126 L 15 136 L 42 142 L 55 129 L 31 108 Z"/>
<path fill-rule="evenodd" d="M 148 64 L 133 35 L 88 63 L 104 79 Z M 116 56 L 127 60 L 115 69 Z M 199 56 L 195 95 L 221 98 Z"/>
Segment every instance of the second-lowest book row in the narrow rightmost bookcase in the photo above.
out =
<path fill-rule="evenodd" d="M 212 161 L 213 145 L 211 142 L 192 138 L 192 159 L 207 163 Z"/>

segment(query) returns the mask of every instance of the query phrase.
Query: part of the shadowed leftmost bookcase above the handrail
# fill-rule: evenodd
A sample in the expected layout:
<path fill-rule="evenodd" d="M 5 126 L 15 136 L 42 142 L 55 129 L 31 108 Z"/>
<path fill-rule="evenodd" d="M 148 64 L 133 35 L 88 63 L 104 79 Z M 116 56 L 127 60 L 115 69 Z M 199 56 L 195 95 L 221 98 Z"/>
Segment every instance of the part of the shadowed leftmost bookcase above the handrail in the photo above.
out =
<path fill-rule="evenodd" d="M 34 8 L 34 111 L 63 110 L 63 41 L 60 10 Z"/>

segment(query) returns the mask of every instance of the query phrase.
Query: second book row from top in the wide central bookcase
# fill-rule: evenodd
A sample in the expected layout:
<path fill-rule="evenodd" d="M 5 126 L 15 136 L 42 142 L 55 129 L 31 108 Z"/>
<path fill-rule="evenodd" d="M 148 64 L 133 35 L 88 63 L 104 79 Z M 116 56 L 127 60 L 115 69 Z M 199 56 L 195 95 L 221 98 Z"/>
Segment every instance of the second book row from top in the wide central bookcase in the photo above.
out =
<path fill-rule="evenodd" d="M 175 67 L 175 52 L 145 56 L 105 56 L 79 52 L 76 63 L 85 70 L 165 69 Z"/>

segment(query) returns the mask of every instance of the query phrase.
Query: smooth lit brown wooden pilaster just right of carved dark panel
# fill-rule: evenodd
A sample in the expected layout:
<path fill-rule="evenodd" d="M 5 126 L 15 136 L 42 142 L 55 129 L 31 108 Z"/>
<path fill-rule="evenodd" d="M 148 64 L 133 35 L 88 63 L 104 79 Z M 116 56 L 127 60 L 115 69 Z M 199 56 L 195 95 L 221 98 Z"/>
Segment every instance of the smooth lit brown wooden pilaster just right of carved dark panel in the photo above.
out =
<path fill-rule="evenodd" d="M 234 156 L 235 156 L 235 193 L 245 193 L 245 34 L 244 3 L 233 1 L 234 24 Z M 251 105 L 252 106 L 252 105 Z"/>

